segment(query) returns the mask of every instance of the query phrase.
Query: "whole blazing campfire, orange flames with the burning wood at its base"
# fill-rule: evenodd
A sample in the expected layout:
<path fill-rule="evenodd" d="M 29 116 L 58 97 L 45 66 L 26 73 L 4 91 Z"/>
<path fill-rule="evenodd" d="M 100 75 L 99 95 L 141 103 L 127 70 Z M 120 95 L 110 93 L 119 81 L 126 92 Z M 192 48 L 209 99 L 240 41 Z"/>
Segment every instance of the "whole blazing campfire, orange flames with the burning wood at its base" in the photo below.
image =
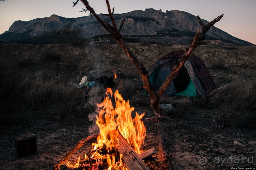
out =
<path fill-rule="evenodd" d="M 93 149 L 89 155 L 85 154 L 83 158 L 79 156 L 75 163 L 68 162 L 66 167 L 69 169 L 128 169 L 127 159 L 130 158 L 127 152 L 135 152 L 135 158 L 132 159 L 140 159 L 138 155 L 143 153 L 141 144 L 146 136 L 146 128 L 141 121 L 145 113 L 140 115 L 135 112 L 135 118 L 132 118 L 134 107 L 129 105 L 129 101 L 123 100 L 116 90 L 113 106 L 112 97 L 111 88 L 107 88 L 104 101 L 97 104 L 101 108 L 96 116 L 96 124 L 100 130 L 97 143 L 92 143 Z"/>

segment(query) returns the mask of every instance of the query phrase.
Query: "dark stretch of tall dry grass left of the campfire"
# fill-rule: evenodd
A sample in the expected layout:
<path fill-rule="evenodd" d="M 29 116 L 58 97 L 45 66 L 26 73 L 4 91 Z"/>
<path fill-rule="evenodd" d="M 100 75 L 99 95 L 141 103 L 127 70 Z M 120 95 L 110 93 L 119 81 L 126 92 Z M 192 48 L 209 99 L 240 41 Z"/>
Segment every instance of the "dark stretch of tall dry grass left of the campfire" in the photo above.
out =
<path fill-rule="evenodd" d="M 49 118 L 69 120 L 87 117 L 82 89 L 71 87 L 73 79 L 65 77 L 46 78 L 43 71 L 19 72 L 1 66 L 0 108 L 2 117 L 11 119 L 11 113 L 22 110 L 45 112 Z"/>

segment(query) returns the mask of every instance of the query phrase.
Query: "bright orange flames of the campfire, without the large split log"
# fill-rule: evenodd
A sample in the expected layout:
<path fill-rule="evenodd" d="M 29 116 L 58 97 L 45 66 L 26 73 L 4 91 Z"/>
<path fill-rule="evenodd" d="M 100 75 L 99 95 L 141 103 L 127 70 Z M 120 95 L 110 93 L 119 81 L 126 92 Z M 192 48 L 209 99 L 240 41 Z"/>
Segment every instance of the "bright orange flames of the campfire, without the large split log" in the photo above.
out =
<path fill-rule="evenodd" d="M 134 107 L 130 107 L 129 101 L 123 100 L 121 94 L 118 93 L 118 90 L 116 90 L 114 94 L 115 108 L 111 101 L 113 95 L 111 88 L 107 88 L 106 94 L 104 101 L 97 104 L 98 107 L 102 107 L 99 111 L 99 115 L 96 116 L 96 124 L 100 129 L 100 134 L 97 137 L 97 143 L 92 143 L 93 150 L 89 159 L 95 159 L 97 162 L 106 163 L 106 169 L 108 170 L 126 170 L 127 168 L 122 162 L 122 154 L 119 154 L 116 150 L 118 146 L 118 138 L 114 132 L 119 131 L 126 141 L 134 148 L 135 152 L 141 154 L 143 150 L 141 150 L 140 147 L 146 136 L 146 128 L 141 121 L 141 118 L 145 113 L 139 115 L 135 112 L 135 118 L 132 118 L 131 114 L 134 111 Z M 85 160 L 87 159 L 88 156 L 85 155 Z M 79 161 L 77 164 L 79 164 Z M 70 163 L 69 166 L 66 166 L 71 167 Z"/>

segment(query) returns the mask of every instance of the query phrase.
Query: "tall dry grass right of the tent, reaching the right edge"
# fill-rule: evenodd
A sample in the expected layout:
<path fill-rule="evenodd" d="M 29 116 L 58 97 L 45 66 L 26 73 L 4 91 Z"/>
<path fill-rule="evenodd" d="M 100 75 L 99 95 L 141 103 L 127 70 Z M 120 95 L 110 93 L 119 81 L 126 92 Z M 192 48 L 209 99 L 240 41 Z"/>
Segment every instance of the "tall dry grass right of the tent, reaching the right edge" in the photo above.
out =
<path fill-rule="evenodd" d="M 256 80 L 233 79 L 223 84 L 210 96 L 210 105 L 217 109 L 213 125 L 232 129 L 255 128 Z"/>

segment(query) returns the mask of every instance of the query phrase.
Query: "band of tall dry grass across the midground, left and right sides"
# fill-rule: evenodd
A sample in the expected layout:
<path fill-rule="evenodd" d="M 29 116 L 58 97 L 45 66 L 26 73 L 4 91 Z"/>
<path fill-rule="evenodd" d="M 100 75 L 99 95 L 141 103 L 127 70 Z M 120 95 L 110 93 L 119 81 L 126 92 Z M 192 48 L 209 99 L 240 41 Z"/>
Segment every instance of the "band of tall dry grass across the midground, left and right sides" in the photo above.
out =
<path fill-rule="evenodd" d="M 45 55 L 47 60 L 59 59 L 56 54 Z M 3 62 L 2 62 L 3 63 Z M 17 110 L 43 111 L 46 116 L 56 120 L 65 119 L 72 122 L 75 118 L 87 118 L 88 114 L 95 112 L 96 103 L 103 100 L 105 89 L 94 87 L 88 94 L 83 89 L 74 88 L 71 82 L 76 78 L 45 76 L 44 70 L 28 73 L 14 68 L 0 66 L 0 108 L 2 117 Z M 118 76 L 115 90 L 125 100 L 129 100 L 134 107 L 150 107 L 150 98 L 147 93 L 141 93 L 141 80 L 123 78 Z M 224 83 L 217 88 L 205 101 L 201 98 L 164 96 L 161 103 L 175 106 L 181 114 L 196 112 L 197 109 L 212 109 L 212 126 L 217 128 L 241 127 L 255 128 L 256 80 L 239 80 L 234 77 L 232 81 Z"/>

